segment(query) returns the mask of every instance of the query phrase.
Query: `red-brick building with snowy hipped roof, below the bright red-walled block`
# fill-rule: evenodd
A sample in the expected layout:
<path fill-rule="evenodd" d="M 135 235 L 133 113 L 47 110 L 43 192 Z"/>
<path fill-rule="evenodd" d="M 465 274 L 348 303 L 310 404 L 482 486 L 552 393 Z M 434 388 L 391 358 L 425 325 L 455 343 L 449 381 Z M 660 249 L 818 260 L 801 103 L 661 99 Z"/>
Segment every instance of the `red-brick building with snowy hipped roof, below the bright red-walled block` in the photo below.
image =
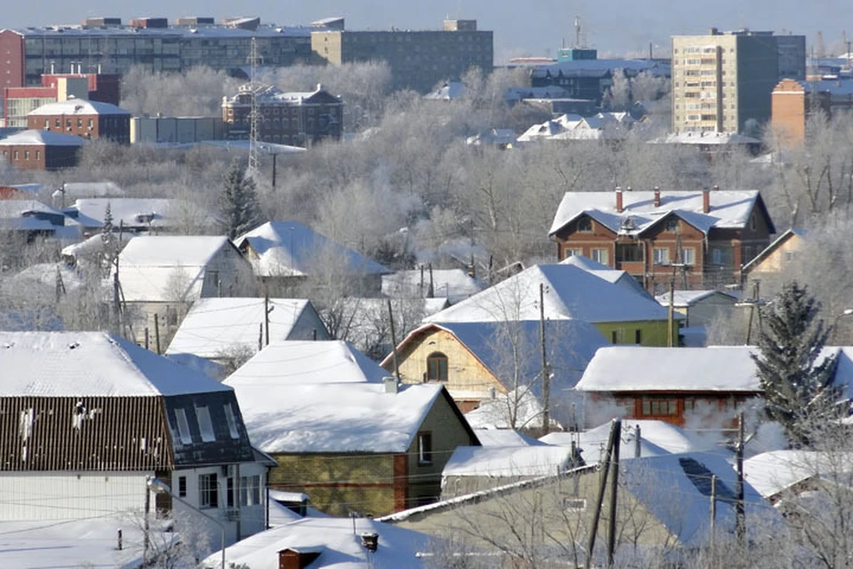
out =
<path fill-rule="evenodd" d="M 76 134 L 130 144 L 131 114 L 124 108 L 92 100 L 68 99 L 43 105 L 28 115 L 31 130 Z"/>

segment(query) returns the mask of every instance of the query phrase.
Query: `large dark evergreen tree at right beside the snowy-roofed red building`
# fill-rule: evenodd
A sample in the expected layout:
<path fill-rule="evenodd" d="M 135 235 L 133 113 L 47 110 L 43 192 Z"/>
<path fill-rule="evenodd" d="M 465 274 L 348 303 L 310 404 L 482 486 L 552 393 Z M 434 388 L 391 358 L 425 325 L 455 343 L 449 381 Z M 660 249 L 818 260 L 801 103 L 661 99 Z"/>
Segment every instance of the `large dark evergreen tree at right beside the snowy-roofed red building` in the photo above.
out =
<path fill-rule="evenodd" d="M 785 284 L 761 309 L 758 366 L 765 409 L 793 446 L 806 446 L 816 429 L 839 418 L 841 386 L 833 384 L 837 358 L 822 357 L 831 326 L 818 318 L 820 303 L 796 282 Z"/>

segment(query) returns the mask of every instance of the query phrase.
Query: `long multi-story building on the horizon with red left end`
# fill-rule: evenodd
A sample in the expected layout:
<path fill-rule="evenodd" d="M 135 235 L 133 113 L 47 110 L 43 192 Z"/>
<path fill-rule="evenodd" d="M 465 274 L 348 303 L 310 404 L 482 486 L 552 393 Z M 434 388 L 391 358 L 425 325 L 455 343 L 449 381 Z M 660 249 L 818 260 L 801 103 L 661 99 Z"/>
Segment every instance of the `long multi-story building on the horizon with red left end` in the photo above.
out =
<path fill-rule="evenodd" d="M 195 65 L 236 71 L 250 61 L 255 40 L 259 64 L 289 66 L 311 58 L 310 28 L 264 26 L 258 19 L 211 25 L 212 19 L 181 19 L 165 27 L 159 18 L 84 20 L 83 25 L 0 31 L 0 88 L 41 84 L 45 73 L 124 74 L 133 66 L 183 71 Z"/>

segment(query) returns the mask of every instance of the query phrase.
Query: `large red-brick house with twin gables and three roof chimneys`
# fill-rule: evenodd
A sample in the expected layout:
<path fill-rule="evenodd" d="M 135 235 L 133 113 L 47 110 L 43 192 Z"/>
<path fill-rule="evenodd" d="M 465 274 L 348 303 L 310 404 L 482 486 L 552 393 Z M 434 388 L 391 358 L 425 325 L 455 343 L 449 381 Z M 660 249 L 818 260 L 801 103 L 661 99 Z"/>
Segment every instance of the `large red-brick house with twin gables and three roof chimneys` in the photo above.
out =
<path fill-rule="evenodd" d="M 739 284 L 776 232 L 758 191 L 567 192 L 549 235 L 557 257 L 625 270 L 652 293 Z"/>

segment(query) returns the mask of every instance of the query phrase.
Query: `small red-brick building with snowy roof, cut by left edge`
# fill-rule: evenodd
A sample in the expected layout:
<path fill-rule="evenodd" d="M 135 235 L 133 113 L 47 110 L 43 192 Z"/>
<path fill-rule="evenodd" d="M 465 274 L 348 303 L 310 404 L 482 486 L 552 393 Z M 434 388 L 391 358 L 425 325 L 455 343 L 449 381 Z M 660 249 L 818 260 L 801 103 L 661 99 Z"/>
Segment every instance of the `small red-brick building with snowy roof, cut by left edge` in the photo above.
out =
<path fill-rule="evenodd" d="M 24 131 L 0 140 L 0 157 L 18 170 L 60 170 L 76 166 L 83 145 L 71 134 Z"/>

